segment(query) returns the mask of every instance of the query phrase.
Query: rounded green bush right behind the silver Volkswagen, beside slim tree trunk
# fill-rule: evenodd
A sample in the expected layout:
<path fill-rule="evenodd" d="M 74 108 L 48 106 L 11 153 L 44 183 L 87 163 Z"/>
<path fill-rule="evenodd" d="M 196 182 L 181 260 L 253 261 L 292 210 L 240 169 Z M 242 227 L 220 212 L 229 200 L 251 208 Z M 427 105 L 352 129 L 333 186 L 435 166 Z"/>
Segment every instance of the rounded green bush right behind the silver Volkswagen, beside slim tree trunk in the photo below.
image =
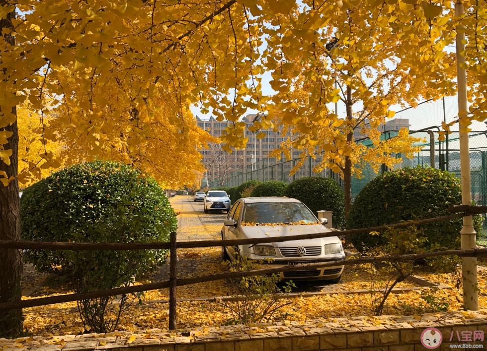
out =
<path fill-rule="evenodd" d="M 331 178 L 307 176 L 289 184 L 282 196 L 303 202 L 317 216 L 321 210 L 332 211 L 334 228 L 345 226 L 345 195 Z"/>

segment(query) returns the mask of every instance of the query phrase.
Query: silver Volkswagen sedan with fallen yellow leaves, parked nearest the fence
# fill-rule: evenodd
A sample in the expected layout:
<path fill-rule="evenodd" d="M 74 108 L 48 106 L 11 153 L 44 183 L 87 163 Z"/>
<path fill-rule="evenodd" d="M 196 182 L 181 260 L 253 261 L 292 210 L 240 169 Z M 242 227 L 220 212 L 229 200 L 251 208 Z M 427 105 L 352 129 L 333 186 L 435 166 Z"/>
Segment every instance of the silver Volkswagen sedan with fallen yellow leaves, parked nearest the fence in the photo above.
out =
<path fill-rule="evenodd" d="M 320 223 L 301 201 L 285 197 L 246 197 L 238 200 L 230 210 L 222 228 L 222 239 L 289 236 L 331 232 Z M 258 245 L 222 247 L 223 259 L 235 260 L 236 255 L 251 260 L 272 258 L 265 267 L 338 261 L 345 259 L 341 241 L 337 236 L 284 241 Z M 281 272 L 282 279 L 329 280 L 338 283 L 344 266 L 313 270 Z"/>

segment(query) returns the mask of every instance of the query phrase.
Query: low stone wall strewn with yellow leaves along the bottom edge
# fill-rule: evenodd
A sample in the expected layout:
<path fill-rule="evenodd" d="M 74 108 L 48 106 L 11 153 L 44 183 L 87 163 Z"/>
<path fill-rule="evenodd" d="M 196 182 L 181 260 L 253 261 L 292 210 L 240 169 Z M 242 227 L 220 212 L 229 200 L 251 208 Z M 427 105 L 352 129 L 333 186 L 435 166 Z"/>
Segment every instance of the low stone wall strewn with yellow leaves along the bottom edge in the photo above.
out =
<path fill-rule="evenodd" d="M 194 329 L 115 331 L 106 334 L 91 333 L 45 338 L 34 336 L 0 339 L 0 350 L 91 351 L 113 349 L 113 351 L 121 351 L 121 349 L 127 349 L 126 351 L 185 351 L 200 350 L 196 348 L 197 344 L 207 344 L 207 349 L 201 349 L 203 351 L 210 350 L 208 349 L 209 343 L 220 343 L 235 351 L 262 351 L 267 349 L 262 349 L 259 343 L 262 343 L 263 340 L 263 345 L 265 345 L 265 340 L 268 339 L 274 339 L 272 343 L 282 344 L 282 347 L 271 348 L 271 350 L 276 351 L 334 350 L 341 348 L 346 343 L 348 344 L 343 348 L 348 346 L 349 349 L 357 343 L 364 343 L 360 347 L 392 345 L 391 343 L 396 342 L 401 345 L 407 344 L 413 342 L 414 338 L 408 337 L 404 333 L 413 333 L 410 335 L 417 338 L 416 334 L 428 327 L 436 327 L 440 331 L 447 330 L 450 333 L 452 328 L 458 330 L 458 327 L 466 327 L 467 330 L 467 327 L 474 327 L 475 329 L 475 326 L 487 326 L 487 314 L 469 311 L 423 313 L 416 316 L 318 318 L 308 321 L 254 323 L 221 327 L 197 327 Z M 401 341 L 400 332 L 402 334 Z M 449 336 L 450 334 L 448 334 L 448 338 Z M 282 342 L 278 340 L 282 340 Z M 290 340 L 289 343 L 286 340 Z M 415 342 L 418 343 L 419 341 Z M 239 347 L 235 346 L 236 349 L 233 349 L 233 346 L 230 345 L 233 343 L 238 344 Z M 195 348 L 188 348 L 193 344 Z M 222 350 L 227 350 L 227 348 Z"/>

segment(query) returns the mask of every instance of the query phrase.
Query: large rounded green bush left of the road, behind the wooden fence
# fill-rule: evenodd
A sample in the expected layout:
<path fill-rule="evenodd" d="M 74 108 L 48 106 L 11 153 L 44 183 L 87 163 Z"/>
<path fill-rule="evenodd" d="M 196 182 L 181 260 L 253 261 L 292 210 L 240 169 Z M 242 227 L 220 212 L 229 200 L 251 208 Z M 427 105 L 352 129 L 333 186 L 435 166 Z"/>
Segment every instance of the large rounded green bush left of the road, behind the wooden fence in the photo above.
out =
<path fill-rule="evenodd" d="M 177 229 L 175 213 L 158 183 L 130 166 L 95 161 L 56 172 L 27 188 L 20 202 L 22 240 L 160 242 Z M 126 286 L 156 269 L 165 250 L 28 250 L 40 272 L 63 275 L 76 293 Z M 114 330 L 106 320 L 112 298 L 79 303 L 85 330 Z M 126 307 L 122 298 L 120 311 Z M 115 308 L 111 306 L 110 308 Z M 118 317 L 117 317 L 118 316 Z"/>

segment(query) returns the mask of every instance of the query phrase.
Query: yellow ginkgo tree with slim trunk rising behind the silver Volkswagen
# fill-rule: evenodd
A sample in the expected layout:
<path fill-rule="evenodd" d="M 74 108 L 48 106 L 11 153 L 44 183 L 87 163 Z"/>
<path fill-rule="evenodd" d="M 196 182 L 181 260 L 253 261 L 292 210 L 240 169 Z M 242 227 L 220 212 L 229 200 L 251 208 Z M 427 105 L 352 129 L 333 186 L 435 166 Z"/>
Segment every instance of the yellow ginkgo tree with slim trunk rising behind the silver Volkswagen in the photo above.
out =
<path fill-rule="evenodd" d="M 453 38 L 435 37 L 448 17 L 426 18 L 423 7 L 414 11 L 416 6 L 406 2 L 384 3 L 375 11 L 362 6 L 359 1 L 343 4 L 311 40 L 294 40 L 289 47 L 283 41 L 271 42 L 267 55 L 276 67 L 274 79 L 287 82 L 273 83 L 278 94 L 271 115 L 296 135 L 273 154 L 285 151 L 289 157 L 287 150 L 302 149 L 295 172 L 308 155 L 320 153 L 323 159 L 315 172 L 328 167 L 341 174 L 346 214 L 352 203 L 352 175 L 361 176 L 365 165 L 376 172 L 381 164 L 392 167 L 401 161 L 397 154 L 412 157 L 419 151 L 413 146 L 419 139 L 409 136 L 406 128 L 395 137 L 383 136 L 380 127 L 394 116 L 390 107 L 415 106 L 423 99 L 452 94 L 455 88 L 455 57 L 444 52 Z M 402 26 L 392 26 L 391 20 Z M 287 26 L 283 22 L 275 31 L 285 33 Z M 421 46 L 422 41 L 427 44 Z M 337 101 L 345 106 L 344 118 L 330 110 L 329 103 Z"/>

